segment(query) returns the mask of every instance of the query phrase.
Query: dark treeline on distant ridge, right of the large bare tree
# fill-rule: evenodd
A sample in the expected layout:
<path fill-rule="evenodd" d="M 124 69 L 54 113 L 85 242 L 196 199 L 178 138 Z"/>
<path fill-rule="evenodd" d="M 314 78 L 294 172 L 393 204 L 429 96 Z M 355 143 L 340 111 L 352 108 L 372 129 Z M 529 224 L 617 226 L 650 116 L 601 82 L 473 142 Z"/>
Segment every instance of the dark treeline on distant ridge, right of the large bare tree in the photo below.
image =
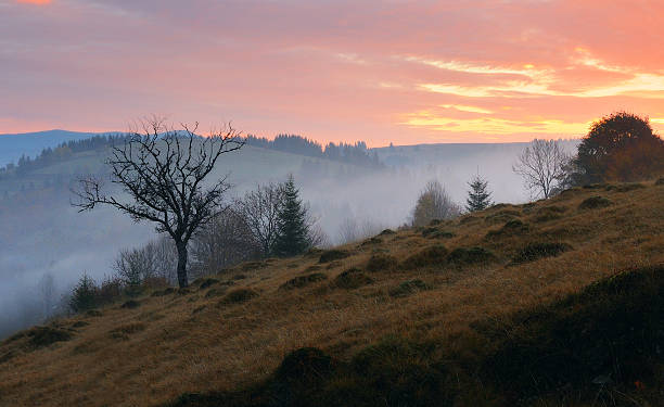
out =
<path fill-rule="evenodd" d="M 274 138 L 274 140 L 268 140 L 264 137 L 258 138 L 250 135 L 246 137 L 246 143 L 248 145 L 259 147 L 263 149 L 283 151 L 318 158 L 327 158 L 363 167 L 383 167 L 383 164 L 379 160 L 378 153 L 375 151 L 369 152 L 367 149 L 367 143 L 363 141 L 356 141 L 354 144 L 344 142 L 335 144 L 333 142 L 329 142 L 323 147 L 317 141 L 296 135 L 279 135 Z"/>

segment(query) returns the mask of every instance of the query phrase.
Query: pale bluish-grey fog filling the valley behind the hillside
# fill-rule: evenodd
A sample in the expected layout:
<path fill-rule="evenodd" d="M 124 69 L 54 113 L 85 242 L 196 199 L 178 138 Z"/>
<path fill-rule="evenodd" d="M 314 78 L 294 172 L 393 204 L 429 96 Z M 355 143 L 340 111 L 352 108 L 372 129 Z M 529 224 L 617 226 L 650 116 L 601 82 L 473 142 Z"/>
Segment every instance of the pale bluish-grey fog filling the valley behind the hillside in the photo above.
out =
<path fill-rule="evenodd" d="M 212 176 L 229 175 L 233 183 L 230 200 L 257 183 L 283 181 L 293 174 L 329 242 L 337 244 L 343 225 L 376 231 L 407 222 L 419 192 L 433 179 L 459 205 L 465 203 L 468 181 L 475 175 L 488 181 L 496 203 L 528 201 L 522 180 L 511 169 L 524 145 L 379 149 L 380 158 L 390 164 L 383 169 L 245 147 L 224 155 Z M 576 142 L 564 145 L 571 151 Z M 84 272 L 99 281 L 112 274 L 120 249 L 142 245 L 155 237 L 150 222 L 136 224 L 112 208 L 78 213 L 69 204 L 68 185 L 43 191 L 36 188 L 24 196 L 0 201 L 0 338 L 39 323 Z M 46 303 L 44 276 L 52 276 L 55 291 Z"/>

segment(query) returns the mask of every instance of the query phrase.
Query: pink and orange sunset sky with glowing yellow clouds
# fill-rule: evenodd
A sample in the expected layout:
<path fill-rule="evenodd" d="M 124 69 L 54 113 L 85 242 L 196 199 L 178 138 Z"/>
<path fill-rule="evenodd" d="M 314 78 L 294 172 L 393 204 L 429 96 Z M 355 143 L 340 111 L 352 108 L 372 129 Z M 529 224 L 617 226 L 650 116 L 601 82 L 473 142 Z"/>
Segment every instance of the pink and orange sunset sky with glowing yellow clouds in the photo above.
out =
<path fill-rule="evenodd" d="M 156 114 L 370 147 L 664 129 L 661 0 L 0 0 L 0 133 Z"/>

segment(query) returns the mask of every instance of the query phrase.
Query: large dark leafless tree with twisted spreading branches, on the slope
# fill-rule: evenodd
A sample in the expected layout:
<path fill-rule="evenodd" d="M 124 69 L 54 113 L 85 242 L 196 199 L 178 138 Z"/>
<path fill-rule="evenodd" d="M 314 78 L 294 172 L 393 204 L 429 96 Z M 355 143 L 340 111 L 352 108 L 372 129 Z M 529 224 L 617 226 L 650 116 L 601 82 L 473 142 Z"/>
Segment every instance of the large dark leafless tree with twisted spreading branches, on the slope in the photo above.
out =
<path fill-rule="evenodd" d="M 135 131 L 129 140 L 113 147 L 106 164 L 111 182 L 129 195 L 106 194 L 103 181 L 89 177 L 79 180 L 74 191 L 79 211 L 93 209 L 98 204 L 113 206 L 133 220 L 156 224 L 157 232 L 173 238 L 178 252 L 178 283 L 188 287 L 187 246 L 196 229 L 210 221 L 221 209 L 225 192 L 230 188 L 227 177 L 204 188 L 219 156 L 244 144 L 230 125 L 208 137 L 199 137 L 197 124 L 182 125 L 176 131 L 163 119 L 141 124 L 143 133 Z"/>

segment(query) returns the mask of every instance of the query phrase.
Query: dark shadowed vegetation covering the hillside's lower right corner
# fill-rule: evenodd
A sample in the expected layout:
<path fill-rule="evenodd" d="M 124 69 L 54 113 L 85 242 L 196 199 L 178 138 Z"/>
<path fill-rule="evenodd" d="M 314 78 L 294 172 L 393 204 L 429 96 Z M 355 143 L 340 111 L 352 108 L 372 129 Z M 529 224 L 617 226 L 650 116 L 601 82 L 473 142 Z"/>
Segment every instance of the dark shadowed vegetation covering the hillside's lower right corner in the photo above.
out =
<path fill-rule="evenodd" d="M 413 281 L 395 296 L 426 289 Z M 661 374 L 663 326 L 664 266 L 643 267 L 507 320 L 477 322 L 470 352 L 399 336 L 349 361 L 301 348 L 265 382 L 184 394 L 170 406 L 655 405 L 659 392 L 634 391 Z"/>

